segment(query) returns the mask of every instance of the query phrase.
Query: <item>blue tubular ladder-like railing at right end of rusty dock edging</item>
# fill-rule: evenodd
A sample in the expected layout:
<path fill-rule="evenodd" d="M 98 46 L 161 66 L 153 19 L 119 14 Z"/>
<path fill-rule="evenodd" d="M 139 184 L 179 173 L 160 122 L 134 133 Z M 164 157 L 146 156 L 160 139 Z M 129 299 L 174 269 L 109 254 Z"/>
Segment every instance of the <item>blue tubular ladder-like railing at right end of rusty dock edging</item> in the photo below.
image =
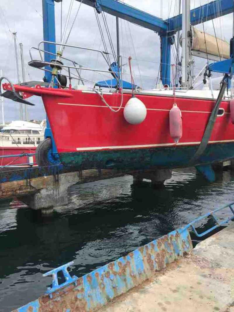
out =
<path fill-rule="evenodd" d="M 220 220 L 220 221 L 219 221 L 218 218 L 217 218 L 217 216 L 215 215 L 215 212 L 224 210 L 225 208 L 229 208 L 229 209 L 231 210 L 231 212 L 232 212 L 233 215 L 231 215 L 231 217 L 228 217 L 228 218 L 225 219 L 225 220 Z M 214 219 L 214 221 L 215 221 L 216 224 L 215 224 L 213 227 L 209 228 L 208 230 L 206 230 L 206 231 L 204 231 L 204 232 L 198 234 L 198 233 L 197 233 L 197 230 L 195 229 L 195 226 L 194 226 L 194 225 L 195 225 L 198 221 L 201 221 L 201 220 L 203 220 L 203 219 L 205 219 L 205 218 L 207 218 L 207 217 L 209 217 L 209 216 L 211 216 L 211 217 Z M 231 221 L 231 220 L 233 220 L 233 219 L 234 219 L 234 202 L 231 202 L 230 204 L 228 204 L 228 205 L 226 205 L 226 206 L 224 206 L 224 207 L 217 208 L 217 209 L 213 210 L 212 212 L 207 212 L 207 213 L 206 213 L 205 215 L 203 215 L 202 217 L 199 217 L 199 218 L 197 218 L 196 220 L 194 220 L 193 222 L 190 222 L 190 223 L 186 226 L 186 228 L 188 229 L 189 227 L 192 227 L 193 232 L 195 233 L 195 235 L 196 235 L 197 237 L 202 237 L 202 236 L 207 235 L 208 233 L 212 232 L 213 230 L 217 229 L 217 227 L 220 227 L 221 225 L 224 225 L 225 223 L 227 223 L 227 222 L 229 222 L 229 221 Z"/>

